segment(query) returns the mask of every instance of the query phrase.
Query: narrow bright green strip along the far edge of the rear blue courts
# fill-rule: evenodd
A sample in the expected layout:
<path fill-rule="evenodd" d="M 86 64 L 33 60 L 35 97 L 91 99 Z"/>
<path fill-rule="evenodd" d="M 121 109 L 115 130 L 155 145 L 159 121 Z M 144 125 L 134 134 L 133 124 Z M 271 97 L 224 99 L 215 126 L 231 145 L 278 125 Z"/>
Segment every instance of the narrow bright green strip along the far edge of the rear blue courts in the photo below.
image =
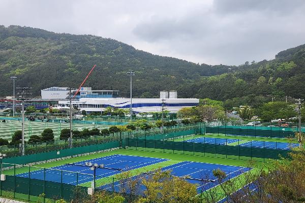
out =
<path fill-rule="evenodd" d="M 222 138 L 222 139 L 239 139 L 239 140 L 246 140 L 246 141 L 265 141 L 265 142 L 281 142 L 281 143 L 297 143 L 296 140 L 287 139 L 287 138 L 267 138 L 267 137 L 247 137 L 247 136 L 228 136 L 225 134 L 201 134 L 198 136 L 186 136 L 185 138 L 177 138 L 174 139 L 175 142 L 181 142 L 186 140 L 192 140 L 196 138 Z"/>

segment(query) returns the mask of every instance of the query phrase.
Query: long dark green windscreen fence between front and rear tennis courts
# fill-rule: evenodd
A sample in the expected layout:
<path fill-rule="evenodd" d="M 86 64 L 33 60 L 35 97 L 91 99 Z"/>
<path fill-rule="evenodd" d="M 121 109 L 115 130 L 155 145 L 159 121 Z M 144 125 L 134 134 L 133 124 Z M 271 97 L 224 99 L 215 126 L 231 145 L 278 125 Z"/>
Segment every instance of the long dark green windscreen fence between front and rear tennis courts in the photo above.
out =
<path fill-rule="evenodd" d="M 145 140 L 138 138 L 127 138 L 125 142 L 126 146 L 128 146 L 128 149 L 163 151 L 177 154 L 193 154 L 245 160 L 256 158 L 257 160 L 262 161 L 265 159 L 280 159 L 282 157 L 288 158 L 288 153 L 291 151 L 290 149 L 281 148 L 247 147 L 240 145 L 232 146 L 228 144 L 210 144 L 196 142 L 175 142 L 174 139 Z"/>

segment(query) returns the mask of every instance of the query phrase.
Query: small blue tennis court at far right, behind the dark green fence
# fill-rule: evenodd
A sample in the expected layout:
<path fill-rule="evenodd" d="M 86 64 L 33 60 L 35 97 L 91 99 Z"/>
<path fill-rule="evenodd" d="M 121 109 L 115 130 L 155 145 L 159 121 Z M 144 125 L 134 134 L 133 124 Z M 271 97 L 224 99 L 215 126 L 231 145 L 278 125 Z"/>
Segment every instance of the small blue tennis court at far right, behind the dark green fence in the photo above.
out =
<path fill-rule="evenodd" d="M 292 149 L 298 147 L 297 143 L 280 143 L 280 142 L 263 142 L 263 141 L 250 141 L 242 143 L 240 146 L 243 147 L 259 147 L 259 148 L 273 148 L 273 149 Z"/>

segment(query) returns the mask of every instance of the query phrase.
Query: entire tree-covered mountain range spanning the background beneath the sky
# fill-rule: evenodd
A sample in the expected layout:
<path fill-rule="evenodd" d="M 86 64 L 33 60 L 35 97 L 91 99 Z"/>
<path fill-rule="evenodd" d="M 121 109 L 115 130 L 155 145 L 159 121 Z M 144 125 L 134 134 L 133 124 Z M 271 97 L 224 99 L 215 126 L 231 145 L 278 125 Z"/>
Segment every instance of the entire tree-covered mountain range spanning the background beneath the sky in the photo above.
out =
<path fill-rule="evenodd" d="M 102 37 L 0 26 L 0 96 L 11 95 L 10 76 L 18 77 L 16 86 L 32 86 L 36 96 L 51 86 L 77 87 L 94 64 L 97 68 L 85 86 L 120 90 L 121 96 L 129 95 L 126 72 L 133 70 L 137 97 L 177 90 L 179 97 L 209 97 L 227 106 L 305 97 L 305 45 L 270 61 L 207 65 L 153 55 Z"/>

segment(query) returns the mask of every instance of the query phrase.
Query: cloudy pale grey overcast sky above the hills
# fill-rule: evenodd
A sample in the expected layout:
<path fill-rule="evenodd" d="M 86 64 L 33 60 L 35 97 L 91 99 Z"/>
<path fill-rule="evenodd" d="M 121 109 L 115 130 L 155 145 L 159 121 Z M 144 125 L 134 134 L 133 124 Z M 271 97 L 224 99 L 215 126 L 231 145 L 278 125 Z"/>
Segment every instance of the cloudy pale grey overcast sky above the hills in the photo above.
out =
<path fill-rule="evenodd" d="M 1 0 L 0 24 L 92 34 L 153 54 L 238 65 L 305 44 L 305 1 Z"/>

